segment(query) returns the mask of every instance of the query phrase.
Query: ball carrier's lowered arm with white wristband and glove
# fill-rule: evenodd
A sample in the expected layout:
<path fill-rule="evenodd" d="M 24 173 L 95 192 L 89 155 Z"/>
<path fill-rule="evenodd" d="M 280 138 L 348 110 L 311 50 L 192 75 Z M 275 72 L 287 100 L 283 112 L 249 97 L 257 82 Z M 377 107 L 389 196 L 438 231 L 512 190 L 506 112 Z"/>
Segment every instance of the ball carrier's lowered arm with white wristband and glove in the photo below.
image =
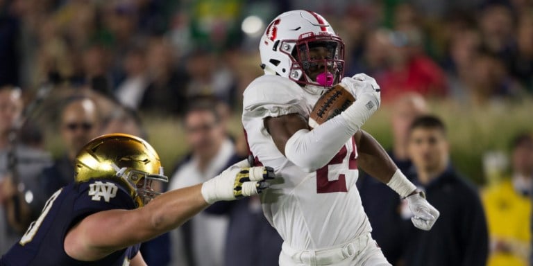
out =
<path fill-rule="evenodd" d="M 430 230 L 439 218 L 439 211 L 425 200 L 423 193 L 416 190 L 416 186 L 403 175 L 389 154 L 370 134 L 361 130 L 355 134 L 355 141 L 359 154 L 357 157 L 359 167 L 407 199 L 409 209 L 414 214 L 411 219 L 414 226 Z"/>

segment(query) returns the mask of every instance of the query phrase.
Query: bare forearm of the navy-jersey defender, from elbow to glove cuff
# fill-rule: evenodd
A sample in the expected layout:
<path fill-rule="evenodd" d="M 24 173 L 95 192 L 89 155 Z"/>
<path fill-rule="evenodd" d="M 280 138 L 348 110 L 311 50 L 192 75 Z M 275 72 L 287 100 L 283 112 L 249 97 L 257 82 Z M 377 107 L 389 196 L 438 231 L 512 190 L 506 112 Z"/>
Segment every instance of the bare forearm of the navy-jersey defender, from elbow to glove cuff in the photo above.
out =
<path fill-rule="evenodd" d="M 91 255 L 84 259 L 102 258 L 175 229 L 206 206 L 201 184 L 172 190 L 139 209 L 114 209 L 90 215 L 69 232 L 65 245 L 72 246 L 76 239 L 84 239 L 85 247 L 81 250 L 85 251 L 81 255 Z"/>

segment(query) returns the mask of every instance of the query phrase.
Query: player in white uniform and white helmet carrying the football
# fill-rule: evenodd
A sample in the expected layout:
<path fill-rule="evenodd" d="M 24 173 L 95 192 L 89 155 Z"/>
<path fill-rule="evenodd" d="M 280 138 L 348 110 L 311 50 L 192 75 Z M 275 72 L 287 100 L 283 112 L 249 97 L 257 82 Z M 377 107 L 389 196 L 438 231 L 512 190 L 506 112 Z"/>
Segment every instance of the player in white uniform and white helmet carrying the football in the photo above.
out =
<path fill-rule="evenodd" d="M 362 168 L 409 202 L 415 227 L 439 212 L 361 130 L 380 105 L 365 74 L 344 76 L 344 43 L 315 12 L 285 12 L 260 40 L 264 76 L 244 91 L 242 123 L 255 164 L 284 182 L 262 196 L 267 220 L 285 241 L 280 265 L 390 265 L 371 238 L 355 181 Z M 339 83 L 356 101 L 321 125 L 308 125 L 321 94 Z"/>

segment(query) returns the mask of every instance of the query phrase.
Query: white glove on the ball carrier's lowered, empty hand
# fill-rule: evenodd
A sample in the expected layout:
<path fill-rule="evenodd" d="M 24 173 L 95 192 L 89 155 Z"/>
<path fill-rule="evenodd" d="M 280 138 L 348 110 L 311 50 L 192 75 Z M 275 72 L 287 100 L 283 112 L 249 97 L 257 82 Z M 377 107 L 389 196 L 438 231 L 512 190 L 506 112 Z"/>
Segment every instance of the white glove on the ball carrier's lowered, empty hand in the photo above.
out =
<path fill-rule="evenodd" d="M 418 192 L 414 195 L 406 197 L 407 202 L 409 203 L 409 209 L 412 211 L 414 217 L 411 218 L 411 221 L 414 224 L 414 227 L 429 231 L 433 224 L 439 218 L 439 211 L 435 209 L 431 204 L 425 200 L 425 194 L 423 192 Z"/>

